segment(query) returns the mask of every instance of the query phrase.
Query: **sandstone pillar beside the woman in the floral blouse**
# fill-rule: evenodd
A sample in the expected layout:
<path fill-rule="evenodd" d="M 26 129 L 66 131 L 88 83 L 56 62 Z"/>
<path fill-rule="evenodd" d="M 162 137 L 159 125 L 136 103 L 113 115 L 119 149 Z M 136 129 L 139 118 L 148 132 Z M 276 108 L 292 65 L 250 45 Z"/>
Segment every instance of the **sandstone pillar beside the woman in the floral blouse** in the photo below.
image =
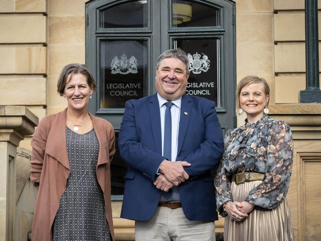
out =
<path fill-rule="evenodd" d="M 286 198 L 295 240 L 321 237 L 321 104 L 269 105 L 269 116 L 285 121 L 293 136 L 293 166 Z"/>

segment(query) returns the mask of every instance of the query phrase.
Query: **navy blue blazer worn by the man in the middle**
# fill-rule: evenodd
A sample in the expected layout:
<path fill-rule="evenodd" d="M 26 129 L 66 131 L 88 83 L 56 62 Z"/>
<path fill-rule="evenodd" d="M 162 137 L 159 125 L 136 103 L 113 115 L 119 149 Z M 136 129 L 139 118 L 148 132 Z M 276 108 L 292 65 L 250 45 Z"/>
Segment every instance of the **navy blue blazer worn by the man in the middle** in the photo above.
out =
<path fill-rule="evenodd" d="M 161 197 L 153 182 L 164 160 L 157 94 L 126 102 L 118 145 L 129 166 L 120 217 L 149 220 Z M 176 160 L 192 164 L 184 167 L 189 180 L 178 186 L 189 220 L 218 219 L 211 169 L 217 166 L 222 153 L 223 135 L 215 103 L 197 96 L 182 96 Z"/>

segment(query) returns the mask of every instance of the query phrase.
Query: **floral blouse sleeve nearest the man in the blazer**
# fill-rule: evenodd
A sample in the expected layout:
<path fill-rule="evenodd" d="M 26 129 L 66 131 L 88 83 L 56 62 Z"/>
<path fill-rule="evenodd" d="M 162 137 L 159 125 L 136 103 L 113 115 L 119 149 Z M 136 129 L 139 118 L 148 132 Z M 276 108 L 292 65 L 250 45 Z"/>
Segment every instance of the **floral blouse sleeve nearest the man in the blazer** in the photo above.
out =
<path fill-rule="evenodd" d="M 222 217 L 227 216 L 227 213 L 223 210 L 224 204 L 229 200 L 233 201 L 231 193 L 231 182 L 229 181 L 229 173 L 224 168 L 224 153 L 227 146 L 229 145 L 230 136 L 231 130 L 227 131 L 225 134 L 224 152 L 214 178 L 217 211 Z"/>

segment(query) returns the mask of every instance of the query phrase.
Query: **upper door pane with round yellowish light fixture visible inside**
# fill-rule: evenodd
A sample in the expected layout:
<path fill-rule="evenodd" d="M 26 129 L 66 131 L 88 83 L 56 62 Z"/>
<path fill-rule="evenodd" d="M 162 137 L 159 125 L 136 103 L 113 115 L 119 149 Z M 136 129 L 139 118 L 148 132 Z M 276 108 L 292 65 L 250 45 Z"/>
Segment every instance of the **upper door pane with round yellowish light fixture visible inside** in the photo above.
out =
<path fill-rule="evenodd" d="M 219 26 L 219 11 L 200 3 L 172 0 L 172 27 Z"/>

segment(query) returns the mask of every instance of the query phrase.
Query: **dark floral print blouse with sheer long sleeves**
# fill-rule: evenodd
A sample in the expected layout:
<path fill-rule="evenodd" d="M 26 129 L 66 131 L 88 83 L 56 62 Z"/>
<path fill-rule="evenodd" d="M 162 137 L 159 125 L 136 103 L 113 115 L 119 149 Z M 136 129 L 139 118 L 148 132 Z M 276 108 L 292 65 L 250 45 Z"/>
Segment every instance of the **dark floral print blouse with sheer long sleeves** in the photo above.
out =
<path fill-rule="evenodd" d="M 283 121 L 263 115 L 256 123 L 247 123 L 226 132 L 222 156 L 214 184 L 217 211 L 233 201 L 231 178 L 242 172 L 264 173 L 262 183 L 253 188 L 246 201 L 261 210 L 273 209 L 284 199 L 292 173 L 293 140 L 290 127 Z"/>

